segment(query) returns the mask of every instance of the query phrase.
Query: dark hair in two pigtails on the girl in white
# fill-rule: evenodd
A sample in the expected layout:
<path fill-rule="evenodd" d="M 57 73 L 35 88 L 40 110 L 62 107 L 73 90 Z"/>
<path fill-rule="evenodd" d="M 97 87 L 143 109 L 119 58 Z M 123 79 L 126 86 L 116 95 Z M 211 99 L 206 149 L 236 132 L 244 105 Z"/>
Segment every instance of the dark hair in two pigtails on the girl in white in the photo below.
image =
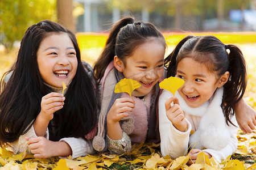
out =
<path fill-rule="evenodd" d="M 247 86 L 247 67 L 241 50 L 236 45 L 223 44 L 214 36 L 186 36 L 164 60 L 167 77 L 176 75 L 177 63 L 185 57 L 207 64 L 209 71 L 217 73 L 217 77 L 229 71 L 221 106 L 226 124 L 232 124 L 230 116 L 234 114 L 235 105 L 242 99 Z"/>

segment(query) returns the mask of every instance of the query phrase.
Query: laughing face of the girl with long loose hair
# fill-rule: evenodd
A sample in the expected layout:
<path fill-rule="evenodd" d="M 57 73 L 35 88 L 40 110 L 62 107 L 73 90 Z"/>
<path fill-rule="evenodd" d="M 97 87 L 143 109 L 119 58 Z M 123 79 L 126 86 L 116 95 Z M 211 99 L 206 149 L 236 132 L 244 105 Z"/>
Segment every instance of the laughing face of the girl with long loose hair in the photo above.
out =
<path fill-rule="evenodd" d="M 44 82 L 53 87 L 69 84 L 77 70 L 74 45 L 67 33 L 52 33 L 41 42 L 36 53 L 38 68 Z"/>

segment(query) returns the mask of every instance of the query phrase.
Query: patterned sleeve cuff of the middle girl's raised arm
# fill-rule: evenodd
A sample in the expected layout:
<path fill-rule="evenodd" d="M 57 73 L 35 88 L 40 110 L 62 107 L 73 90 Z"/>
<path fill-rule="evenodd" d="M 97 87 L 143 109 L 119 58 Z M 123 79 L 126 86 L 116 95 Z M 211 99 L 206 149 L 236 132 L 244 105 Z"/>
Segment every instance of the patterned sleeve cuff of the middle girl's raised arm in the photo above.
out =
<path fill-rule="evenodd" d="M 123 132 L 123 137 L 120 140 L 110 139 L 107 134 L 106 141 L 108 150 L 113 154 L 123 154 L 131 150 L 131 139 L 125 132 Z"/>

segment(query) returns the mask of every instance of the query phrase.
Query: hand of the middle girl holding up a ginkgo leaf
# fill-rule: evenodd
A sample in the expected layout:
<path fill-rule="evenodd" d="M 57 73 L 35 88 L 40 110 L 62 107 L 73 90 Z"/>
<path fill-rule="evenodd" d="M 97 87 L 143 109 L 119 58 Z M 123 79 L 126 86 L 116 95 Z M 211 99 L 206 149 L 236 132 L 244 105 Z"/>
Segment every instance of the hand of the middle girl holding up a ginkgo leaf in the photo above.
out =
<path fill-rule="evenodd" d="M 115 124 L 119 122 L 121 118 L 129 116 L 130 113 L 127 112 L 133 111 L 134 107 L 135 103 L 133 99 L 129 97 L 123 97 L 115 100 L 115 103 L 110 108 L 107 116 L 108 124 Z"/>

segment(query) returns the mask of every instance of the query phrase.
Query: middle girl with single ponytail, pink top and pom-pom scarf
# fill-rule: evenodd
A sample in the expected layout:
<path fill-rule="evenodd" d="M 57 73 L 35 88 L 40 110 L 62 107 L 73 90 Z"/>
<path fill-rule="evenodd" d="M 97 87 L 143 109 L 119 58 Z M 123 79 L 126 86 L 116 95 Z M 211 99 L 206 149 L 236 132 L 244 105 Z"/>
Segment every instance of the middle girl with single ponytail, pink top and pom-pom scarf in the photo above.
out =
<path fill-rule="evenodd" d="M 131 143 L 159 142 L 156 105 L 159 80 L 164 71 L 166 41 L 151 23 L 119 20 L 111 29 L 105 48 L 94 65 L 101 86 L 97 151 L 115 154 L 131 149 Z M 137 80 L 141 87 L 131 94 L 114 93 L 123 78 Z M 132 114 L 131 114 L 132 111 Z"/>

